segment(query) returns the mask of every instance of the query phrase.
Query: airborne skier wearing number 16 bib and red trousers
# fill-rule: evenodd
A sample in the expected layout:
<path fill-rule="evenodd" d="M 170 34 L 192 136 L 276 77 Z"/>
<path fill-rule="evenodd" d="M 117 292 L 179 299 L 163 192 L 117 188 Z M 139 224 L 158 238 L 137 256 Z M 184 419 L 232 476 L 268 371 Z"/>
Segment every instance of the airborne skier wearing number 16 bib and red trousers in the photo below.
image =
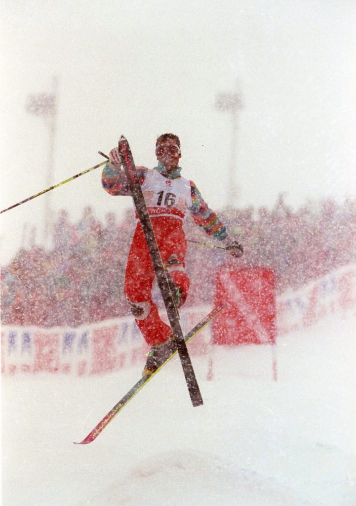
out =
<path fill-rule="evenodd" d="M 187 241 L 183 221 L 189 212 L 195 223 L 219 240 L 233 257 L 241 257 L 242 246 L 227 232 L 216 214 L 203 200 L 193 181 L 181 176 L 179 137 L 162 134 L 156 141 L 158 165 L 153 169 L 137 167 L 148 213 L 176 308 L 186 301 L 189 277 L 185 271 Z M 118 148 L 110 151 L 104 167 L 102 185 L 110 195 L 130 195 Z M 138 219 L 137 213 L 136 218 Z M 154 372 L 175 350 L 171 328 L 164 323 L 152 301 L 155 270 L 138 220 L 128 254 L 124 291 L 137 325 L 151 346 L 143 376 Z"/>

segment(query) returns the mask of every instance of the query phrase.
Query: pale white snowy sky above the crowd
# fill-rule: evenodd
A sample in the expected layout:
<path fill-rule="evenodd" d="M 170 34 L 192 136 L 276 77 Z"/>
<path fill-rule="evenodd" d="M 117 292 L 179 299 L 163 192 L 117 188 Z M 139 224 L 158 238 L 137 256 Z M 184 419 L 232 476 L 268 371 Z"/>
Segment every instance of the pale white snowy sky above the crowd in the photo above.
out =
<path fill-rule="evenodd" d="M 25 111 L 51 91 L 59 110 L 52 183 L 101 162 L 124 134 L 137 164 L 155 164 L 157 135 L 180 136 L 183 175 L 215 209 L 227 203 L 230 120 L 220 91 L 243 94 L 237 204 L 272 207 L 286 192 L 341 200 L 356 189 L 356 3 L 353 0 L 3 0 L 1 208 L 47 184 L 48 130 Z M 50 192 L 72 220 L 104 221 L 131 205 L 110 197 L 101 169 Z M 41 230 L 44 200 L 4 213 L 2 263 L 24 223 Z"/>

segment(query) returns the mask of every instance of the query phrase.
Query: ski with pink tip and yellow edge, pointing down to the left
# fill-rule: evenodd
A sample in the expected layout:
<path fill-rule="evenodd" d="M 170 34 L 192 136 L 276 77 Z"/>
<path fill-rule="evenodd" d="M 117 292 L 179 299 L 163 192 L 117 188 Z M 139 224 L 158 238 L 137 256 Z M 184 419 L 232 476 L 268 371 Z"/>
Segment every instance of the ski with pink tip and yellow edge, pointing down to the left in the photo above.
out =
<path fill-rule="evenodd" d="M 208 323 L 211 322 L 217 316 L 217 314 L 221 311 L 221 309 L 224 307 L 223 304 L 220 306 L 214 308 L 208 315 L 205 316 L 197 325 L 188 333 L 186 334 L 184 340 L 185 343 L 188 343 L 193 339 Z M 99 424 L 90 432 L 86 438 L 84 438 L 80 443 L 74 443 L 74 444 L 88 444 L 94 441 L 99 434 L 105 429 L 105 427 L 110 423 L 110 421 L 114 418 L 114 416 L 117 415 L 123 409 L 128 402 L 135 397 L 135 395 L 140 392 L 140 390 L 147 385 L 147 383 L 157 374 L 159 370 L 162 369 L 162 367 L 169 362 L 171 358 L 176 355 L 177 350 L 175 350 L 160 366 L 159 368 L 150 374 L 147 377 L 142 377 L 139 379 L 139 381 L 134 385 L 128 392 L 125 394 L 121 400 L 115 406 L 104 416 L 102 420 L 100 420 Z"/>

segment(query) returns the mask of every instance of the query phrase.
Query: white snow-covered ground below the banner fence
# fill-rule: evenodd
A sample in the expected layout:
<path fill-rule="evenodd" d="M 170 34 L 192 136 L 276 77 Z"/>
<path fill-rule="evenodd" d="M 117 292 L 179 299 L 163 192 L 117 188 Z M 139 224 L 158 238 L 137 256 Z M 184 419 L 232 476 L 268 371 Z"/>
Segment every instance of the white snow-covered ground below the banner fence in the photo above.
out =
<path fill-rule="evenodd" d="M 3 506 L 354 506 L 355 324 L 280 338 L 277 382 L 269 347 L 194 358 L 198 408 L 170 362 L 87 446 L 140 369 L 3 378 Z"/>

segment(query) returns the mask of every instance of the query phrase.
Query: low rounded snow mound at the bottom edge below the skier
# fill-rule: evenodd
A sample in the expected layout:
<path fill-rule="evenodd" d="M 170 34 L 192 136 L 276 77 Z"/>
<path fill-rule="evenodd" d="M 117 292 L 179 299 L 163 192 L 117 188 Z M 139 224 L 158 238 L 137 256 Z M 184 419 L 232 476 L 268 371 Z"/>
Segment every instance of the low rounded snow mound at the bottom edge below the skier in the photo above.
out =
<path fill-rule="evenodd" d="M 123 481 L 91 498 L 92 506 L 307 506 L 274 478 L 236 469 L 202 452 L 167 451 L 133 467 Z"/>

